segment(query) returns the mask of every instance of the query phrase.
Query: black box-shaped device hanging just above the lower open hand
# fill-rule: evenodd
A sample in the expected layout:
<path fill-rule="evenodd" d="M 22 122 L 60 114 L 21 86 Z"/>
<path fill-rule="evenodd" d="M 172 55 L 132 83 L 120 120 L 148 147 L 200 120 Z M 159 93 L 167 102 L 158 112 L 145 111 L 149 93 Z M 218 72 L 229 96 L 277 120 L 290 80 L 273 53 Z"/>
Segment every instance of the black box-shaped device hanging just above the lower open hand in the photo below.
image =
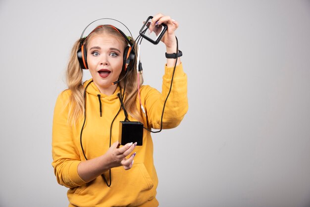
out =
<path fill-rule="evenodd" d="M 139 121 L 120 121 L 118 142 L 121 145 L 137 142 L 138 146 L 143 144 L 143 123 Z"/>

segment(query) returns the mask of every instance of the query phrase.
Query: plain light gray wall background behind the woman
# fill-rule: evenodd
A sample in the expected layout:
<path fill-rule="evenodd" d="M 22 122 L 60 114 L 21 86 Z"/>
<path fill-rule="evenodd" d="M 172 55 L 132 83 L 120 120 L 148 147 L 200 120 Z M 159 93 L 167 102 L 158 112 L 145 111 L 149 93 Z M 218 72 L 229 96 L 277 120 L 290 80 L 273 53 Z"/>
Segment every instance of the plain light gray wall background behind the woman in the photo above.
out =
<path fill-rule="evenodd" d="M 51 134 L 71 47 L 95 19 L 136 38 L 157 12 L 180 24 L 189 98 L 180 126 L 153 135 L 160 206 L 310 205 L 309 0 L 0 0 L 1 207 L 68 205 Z M 160 89 L 165 48 L 141 49 Z"/>

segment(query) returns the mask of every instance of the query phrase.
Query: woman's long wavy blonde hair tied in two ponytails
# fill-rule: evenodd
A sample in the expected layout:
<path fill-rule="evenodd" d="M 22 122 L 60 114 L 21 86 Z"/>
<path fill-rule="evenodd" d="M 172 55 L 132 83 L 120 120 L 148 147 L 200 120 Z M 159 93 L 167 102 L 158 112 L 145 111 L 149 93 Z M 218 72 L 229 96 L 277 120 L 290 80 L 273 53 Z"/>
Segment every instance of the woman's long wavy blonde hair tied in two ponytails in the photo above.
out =
<path fill-rule="evenodd" d="M 94 35 L 98 34 L 108 34 L 111 36 L 116 37 L 124 44 L 124 49 L 128 46 L 128 42 L 124 39 L 124 37 L 112 28 L 109 25 L 102 25 L 101 27 L 97 27 L 85 40 L 84 44 L 87 50 L 87 45 L 89 40 Z M 134 41 L 130 39 L 130 42 L 133 44 Z M 83 70 L 80 68 L 79 61 L 77 59 L 76 52 L 80 47 L 80 40 L 77 40 L 73 48 L 71 50 L 71 55 L 69 58 L 67 72 L 66 72 L 66 82 L 68 89 L 71 91 L 71 96 L 69 98 L 68 104 L 70 104 L 69 114 L 68 114 L 68 123 L 71 125 L 75 125 L 77 120 L 82 117 L 84 113 L 84 86 L 82 82 L 83 78 Z M 136 48 L 136 47 L 135 47 Z M 136 105 L 136 98 L 137 98 L 137 91 L 138 91 L 138 83 L 137 83 L 137 67 L 136 67 L 136 59 L 133 64 L 133 68 L 130 71 L 126 72 L 124 70 L 121 71 L 119 75 L 119 86 L 121 89 L 124 89 L 125 84 L 125 99 L 124 107 L 126 111 L 135 119 L 142 121 L 141 113 L 137 109 Z M 143 84 L 142 75 L 140 77 L 140 86 Z"/>

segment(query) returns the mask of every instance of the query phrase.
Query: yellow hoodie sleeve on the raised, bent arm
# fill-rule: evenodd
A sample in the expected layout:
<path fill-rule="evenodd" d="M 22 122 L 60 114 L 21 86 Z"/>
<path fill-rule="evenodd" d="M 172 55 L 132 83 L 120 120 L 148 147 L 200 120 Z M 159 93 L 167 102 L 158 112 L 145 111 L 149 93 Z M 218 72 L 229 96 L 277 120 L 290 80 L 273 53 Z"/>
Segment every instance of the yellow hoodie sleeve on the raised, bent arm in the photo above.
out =
<path fill-rule="evenodd" d="M 165 99 L 169 93 L 173 67 L 165 66 L 162 78 L 162 92 L 146 87 L 144 104 L 148 115 L 148 124 L 151 128 L 160 128 L 160 119 Z M 172 89 L 165 104 L 162 126 L 163 129 L 174 128 L 180 124 L 188 110 L 187 76 L 183 71 L 182 63 L 177 65 L 172 82 Z"/>

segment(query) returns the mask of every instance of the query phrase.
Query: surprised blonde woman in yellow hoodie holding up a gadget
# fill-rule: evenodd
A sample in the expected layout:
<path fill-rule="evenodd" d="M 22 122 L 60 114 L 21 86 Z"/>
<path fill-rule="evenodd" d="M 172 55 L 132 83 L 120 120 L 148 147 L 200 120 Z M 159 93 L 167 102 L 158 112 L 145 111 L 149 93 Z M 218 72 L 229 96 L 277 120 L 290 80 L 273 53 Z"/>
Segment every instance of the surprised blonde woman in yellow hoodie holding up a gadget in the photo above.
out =
<path fill-rule="evenodd" d="M 161 41 L 167 53 L 174 53 L 178 23 L 157 14 L 152 19 L 151 32 L 161 23 L 168 27 Z M 68 89 L 58 96 L 55 104 L 52 165 L 57 182 L 70 188 L 69 206 L 157 207 L 153 142 L 147 129 L 161 127 L 162 108 L 175 61 L 173 87 L 165 104 L 162 128 L 176 127 L 187 112 L 187 77 L 180 57 L 167 58 L 159 93 L 150 86 L 142 86 L 141 76 L 137 80 L 137 68 L 126 68 L 124 51 L 128 50 L 128 41 L 133 41 L 121 33 L 111 25 L 93 30 L 82 42 L 86 53 L 82 66 L 76 55 L 81 44 L 75 43 L 67 67 Z M 84 66 L 90 70 L 92 79 L 83 84 Z M 141 105 L 145 111 L 140 109 Z M 142 146 L 135 142 L 120 147 L 119 122 L 125 115 L 146 127 Z"/>

